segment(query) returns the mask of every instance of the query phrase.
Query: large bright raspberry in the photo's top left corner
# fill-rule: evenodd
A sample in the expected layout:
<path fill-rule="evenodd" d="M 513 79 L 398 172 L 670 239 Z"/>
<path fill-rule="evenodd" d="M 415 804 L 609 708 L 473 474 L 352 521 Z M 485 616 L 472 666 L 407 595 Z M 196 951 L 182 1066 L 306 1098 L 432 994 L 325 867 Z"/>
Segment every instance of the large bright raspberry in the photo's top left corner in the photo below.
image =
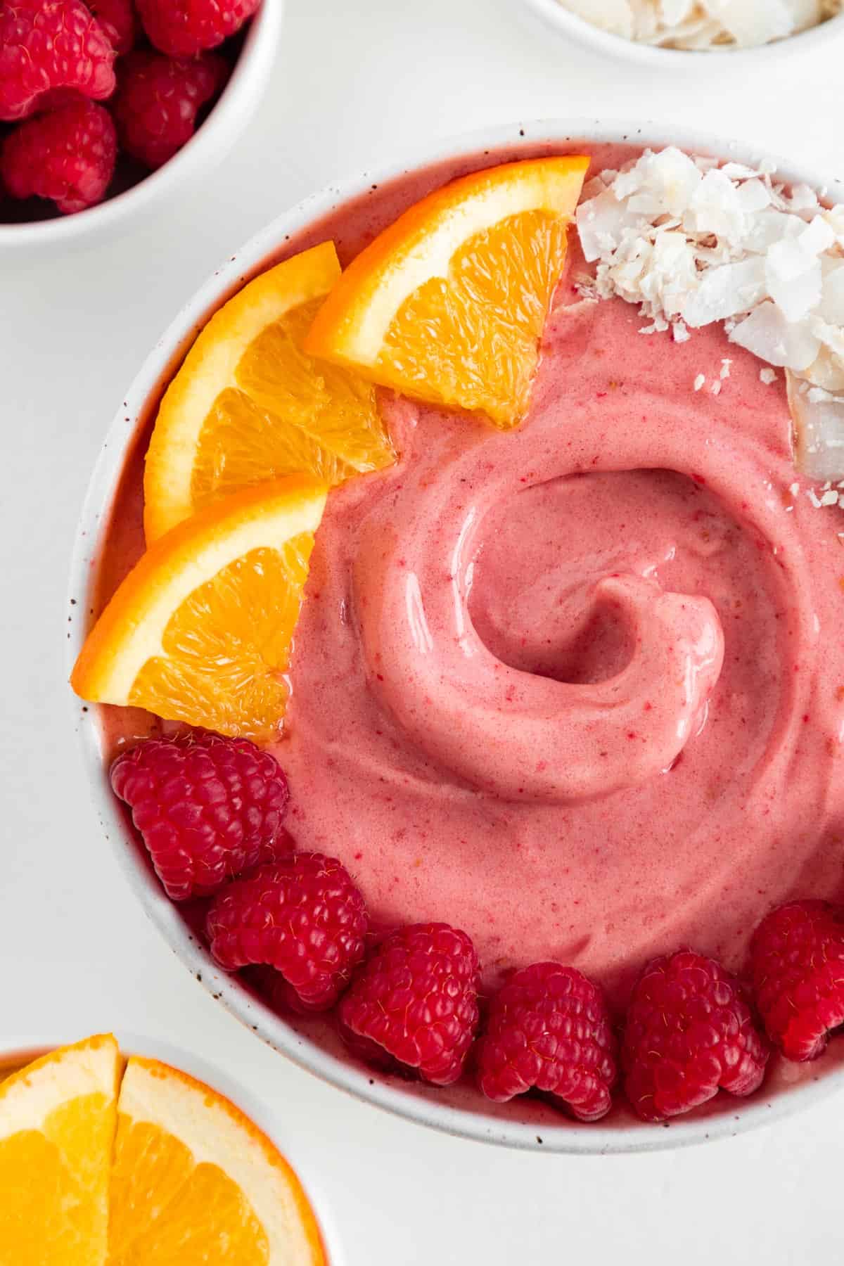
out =
<path fill-rule="evenodd" d="M 43 94 L 75 89 L 101 101 L 114 92 L 114 49 L 82 0 L 0 4 L 0 119 L 25 119 Z"/>

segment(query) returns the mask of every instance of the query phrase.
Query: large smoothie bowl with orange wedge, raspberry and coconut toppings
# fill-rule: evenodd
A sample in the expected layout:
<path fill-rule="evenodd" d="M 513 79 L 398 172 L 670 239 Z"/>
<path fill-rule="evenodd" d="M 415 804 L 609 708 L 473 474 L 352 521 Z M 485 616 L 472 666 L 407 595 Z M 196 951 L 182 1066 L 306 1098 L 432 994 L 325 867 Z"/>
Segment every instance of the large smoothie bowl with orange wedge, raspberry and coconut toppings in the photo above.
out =
<path fill-rule="evenodd" d="M 71 681 L 147 909 L 430 1124 L 836 1080 L 844 210 L 744 157 L 537 125 L 305 204 L 94 479 Z"/>

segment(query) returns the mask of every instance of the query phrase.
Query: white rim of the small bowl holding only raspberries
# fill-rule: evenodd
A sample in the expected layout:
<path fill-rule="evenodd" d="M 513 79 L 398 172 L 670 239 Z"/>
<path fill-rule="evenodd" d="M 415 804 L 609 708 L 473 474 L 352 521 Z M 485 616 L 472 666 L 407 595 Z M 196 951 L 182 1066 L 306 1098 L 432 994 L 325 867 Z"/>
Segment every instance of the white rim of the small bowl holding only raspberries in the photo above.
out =
<path fill-rule="evenodd" d="M 276 65 L 283 0 L 263 0 L 252 19 L 225 89 L 205 122 L 170 162 L 137 185 L 75 215 L 29 223 L 0 223 L 0 251 L 72 248 L 81 239 L 123 230 L 129 220 L 154 209 L 180 185 L 216 166 L 252 118 Z"/>

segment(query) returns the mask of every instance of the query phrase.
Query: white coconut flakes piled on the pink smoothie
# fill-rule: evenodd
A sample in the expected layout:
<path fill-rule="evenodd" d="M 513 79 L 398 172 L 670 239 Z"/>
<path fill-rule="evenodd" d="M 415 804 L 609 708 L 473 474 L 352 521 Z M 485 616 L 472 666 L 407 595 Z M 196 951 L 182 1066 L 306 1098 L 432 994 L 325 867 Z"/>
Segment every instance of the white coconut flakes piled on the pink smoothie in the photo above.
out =
<path fill-rule="evenodd" d="M 777 181 L 773 162 L 719 166 L 673 147 L 601 172 L 585 194 L 588 296 L 636 304 L 643 333 L 671 329 L 678 343 L 723 322 L 766 362 L 764 384 L 786 370 L 800 470 L 844 475 L 844 204 Z"/>

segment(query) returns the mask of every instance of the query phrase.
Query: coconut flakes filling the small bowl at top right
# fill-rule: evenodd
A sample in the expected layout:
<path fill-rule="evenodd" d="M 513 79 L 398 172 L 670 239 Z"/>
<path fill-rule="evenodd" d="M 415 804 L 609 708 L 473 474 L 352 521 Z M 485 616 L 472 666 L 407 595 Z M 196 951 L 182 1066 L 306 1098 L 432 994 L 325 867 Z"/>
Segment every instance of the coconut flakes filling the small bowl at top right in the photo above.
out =
<path fill-rule="evenodd" d="M 724 52 L 807 30 L 841 11 L 843 0 L 559 0 L 585 22 L 663 48 Z M 738 166 L 738 165 L 735 165 Z"/>

